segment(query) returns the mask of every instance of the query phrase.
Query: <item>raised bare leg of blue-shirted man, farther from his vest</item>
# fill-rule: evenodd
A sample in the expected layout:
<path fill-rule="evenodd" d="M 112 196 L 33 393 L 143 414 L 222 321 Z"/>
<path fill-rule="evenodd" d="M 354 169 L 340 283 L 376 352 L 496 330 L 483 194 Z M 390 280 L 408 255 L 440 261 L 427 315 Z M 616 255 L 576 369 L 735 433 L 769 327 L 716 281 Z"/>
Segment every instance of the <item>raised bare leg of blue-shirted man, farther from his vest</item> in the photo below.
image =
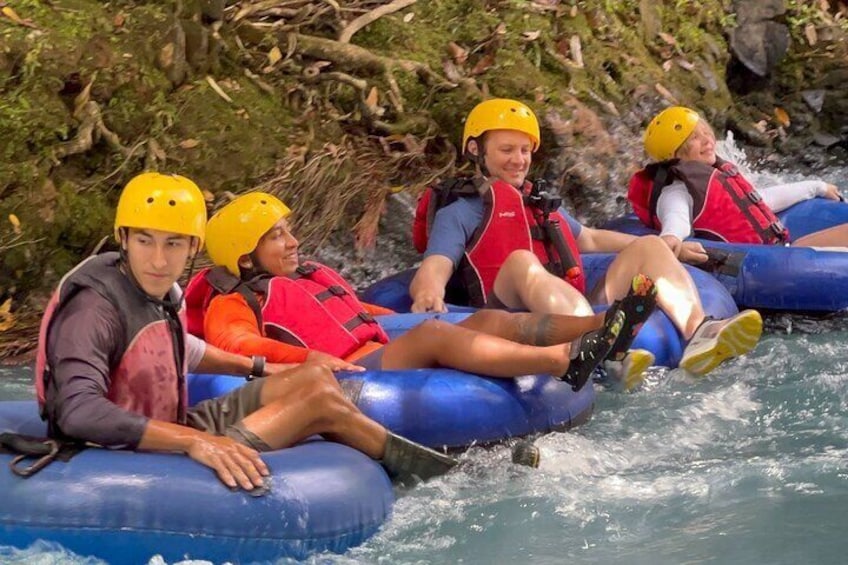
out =
<path fill-rule="evenodd" d="M 607 300 L 627 294 L 633 277 L 642 273 L 654 280 L 657 305 L 689 339 L 704 321 L 704 308 L 695 282 L 668 246 L 657 236 L 643 236 L 625 247 L 607 270 Z"/>

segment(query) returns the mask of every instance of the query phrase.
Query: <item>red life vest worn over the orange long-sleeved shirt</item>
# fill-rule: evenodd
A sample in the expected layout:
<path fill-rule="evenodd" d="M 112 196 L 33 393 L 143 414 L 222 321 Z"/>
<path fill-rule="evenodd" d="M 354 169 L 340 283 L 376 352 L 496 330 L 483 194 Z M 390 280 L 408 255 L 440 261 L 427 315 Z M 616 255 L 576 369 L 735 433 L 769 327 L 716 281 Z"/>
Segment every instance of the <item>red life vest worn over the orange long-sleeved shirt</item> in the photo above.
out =
<path fill-rule="evenodd" d="M 291 276 L 260 275 L 247 282 L 223 267 L 201 271 L 186 289 L 189 330 L 202 335 L 209 302 L 232 292 L 244 296 L 262 334 L 283 343 L 344 358 L 370 341 L 389 341 L 347 281 L 319 263 L 304 263 Z M 263 297 L 261 306 L 256 294 Z"/>

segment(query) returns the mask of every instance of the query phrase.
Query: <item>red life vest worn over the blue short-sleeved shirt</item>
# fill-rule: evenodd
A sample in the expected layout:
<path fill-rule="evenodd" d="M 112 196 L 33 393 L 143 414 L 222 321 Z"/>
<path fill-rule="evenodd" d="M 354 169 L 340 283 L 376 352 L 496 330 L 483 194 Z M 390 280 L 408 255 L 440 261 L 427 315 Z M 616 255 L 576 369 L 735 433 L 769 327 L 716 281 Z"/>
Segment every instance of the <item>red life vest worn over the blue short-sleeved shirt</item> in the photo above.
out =
<path fill-rule="evenodd" d="M 458 179 L 427 189 L 418 202 L 413 224 L 413 241 L 423 252 L 429 239 L 429 228 L 438 208 L 457 197 L 483 199 L 483 221 L 466 244 L 465 255 L 458 267 L 461 283 L 472 306 L 484 306 L 491 295 L 498 274 L 510 253 L 519 249 L 532 251 L 545 268 L 570 283 L 581 293 L 586 290 L 583 262 L 577 241 L 567 220 L 559 213 L 559 205 L 543 210 L 531 198 L 533 185 L 525 183 L 519 191 L 501 180 L 483 190 L 481 179 Z M 460 186 L 456 186 L 461 183 Z M 478 188 L 480 187 L 480 188 Z M 452 195 L 446 195 L 452 192 Z M 550 198 L 545 194 L 544 198 Z"/>

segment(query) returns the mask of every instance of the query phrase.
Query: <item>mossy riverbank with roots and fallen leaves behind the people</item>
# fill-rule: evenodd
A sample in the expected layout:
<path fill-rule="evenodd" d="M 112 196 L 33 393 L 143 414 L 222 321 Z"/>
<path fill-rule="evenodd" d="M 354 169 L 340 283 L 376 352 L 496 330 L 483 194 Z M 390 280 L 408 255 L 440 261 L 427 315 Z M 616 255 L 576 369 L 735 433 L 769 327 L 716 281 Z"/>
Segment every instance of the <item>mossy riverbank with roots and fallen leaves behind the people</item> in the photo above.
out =
<path fill-rule="evenodd" d="M 288 34 L 336 39 L 373 1 L 233 22 L 261 4 L 242 1 L 221 25 L 200 23 L 201 4 L 20 0 L 23 24 L 0 16 L 0 304 L 37 311 L 145 168 L 195 179 L 215 204 L 257 186 L 296 196 L 304 232 L 368 242 L 389 187 L 449 171 L 461 118 L 486 96 L 563 120 L 584 108 L 602 129 L 642 97 L 732 107 L 731 0 L 420 0 L 355 33 L 368 61 Z M 795 35 L 835 17 L 788 5 Z"/>

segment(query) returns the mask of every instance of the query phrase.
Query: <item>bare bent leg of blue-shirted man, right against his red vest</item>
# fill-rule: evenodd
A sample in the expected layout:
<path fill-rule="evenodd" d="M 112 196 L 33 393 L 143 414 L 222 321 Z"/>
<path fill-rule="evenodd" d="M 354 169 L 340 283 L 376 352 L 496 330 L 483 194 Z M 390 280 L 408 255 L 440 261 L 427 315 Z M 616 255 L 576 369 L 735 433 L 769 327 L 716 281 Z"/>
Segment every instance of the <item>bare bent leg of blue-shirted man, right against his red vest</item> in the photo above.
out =
<path fill-rule="evenodd" d="M 494 293 L 509 308 L 592 315 L 592 307 L 580 291 L 546 271 L 530 251 L 510 253 L 495 277 Z"/>

